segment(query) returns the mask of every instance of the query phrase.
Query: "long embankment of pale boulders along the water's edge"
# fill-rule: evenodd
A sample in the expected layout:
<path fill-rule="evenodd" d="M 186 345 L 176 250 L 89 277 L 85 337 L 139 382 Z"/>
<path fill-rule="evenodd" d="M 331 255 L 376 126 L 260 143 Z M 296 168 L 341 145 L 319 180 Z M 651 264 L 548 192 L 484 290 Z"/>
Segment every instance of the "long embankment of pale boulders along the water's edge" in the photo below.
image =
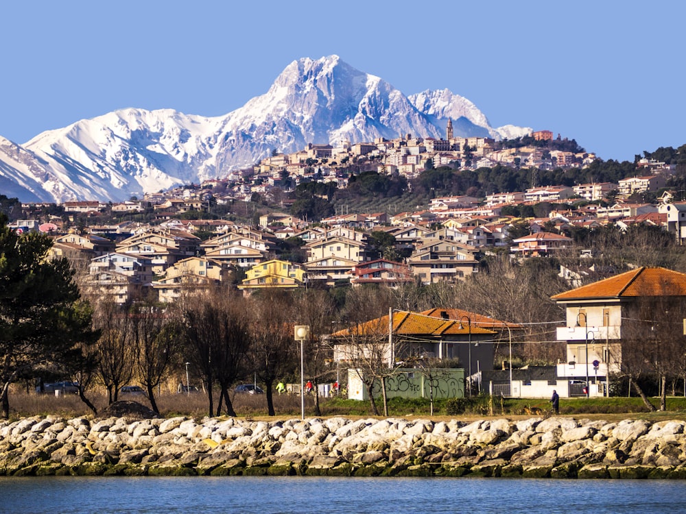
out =
<path fill-rule="evenodd" d="M 0 475 L 686 478 L 685 421 L 29 417 Z"/>

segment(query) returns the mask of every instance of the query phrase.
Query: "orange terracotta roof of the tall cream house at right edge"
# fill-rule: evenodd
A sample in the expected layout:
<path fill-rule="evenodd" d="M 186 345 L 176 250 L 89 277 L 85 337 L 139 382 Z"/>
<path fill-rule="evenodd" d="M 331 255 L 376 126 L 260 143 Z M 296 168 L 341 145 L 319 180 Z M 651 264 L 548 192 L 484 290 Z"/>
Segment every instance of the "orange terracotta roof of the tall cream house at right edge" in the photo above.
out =
<path fill-rule="evenodd" d="M 640 267 L 551 298 L 561 301 L 639 296 L 686 296 L 686 274 L 665 268 Z"/>

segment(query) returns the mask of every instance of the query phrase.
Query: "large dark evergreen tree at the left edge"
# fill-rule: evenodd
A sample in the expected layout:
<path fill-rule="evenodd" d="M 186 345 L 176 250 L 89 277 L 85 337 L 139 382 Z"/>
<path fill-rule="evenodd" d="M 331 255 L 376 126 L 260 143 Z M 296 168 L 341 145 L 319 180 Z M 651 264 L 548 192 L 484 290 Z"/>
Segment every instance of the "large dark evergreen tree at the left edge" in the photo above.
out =
<path fill-rule="evenodd" d="M 10 384 L 36 367 L 66 369 L 83 358 L 91 316 L 79 303 L 66 258 L 48 260 L 44 234 L 17 234 L 0 214 L 0 402 L 10 415 Z M 65 371 L 66 373 L 66 371 Z"/>

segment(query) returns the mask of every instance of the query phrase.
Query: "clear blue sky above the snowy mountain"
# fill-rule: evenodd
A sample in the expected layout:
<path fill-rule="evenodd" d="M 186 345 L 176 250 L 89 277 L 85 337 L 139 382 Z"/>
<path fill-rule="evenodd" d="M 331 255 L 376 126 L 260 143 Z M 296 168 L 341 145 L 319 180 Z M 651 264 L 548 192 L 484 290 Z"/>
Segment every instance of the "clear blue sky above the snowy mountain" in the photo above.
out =
<path fill-rule="evenodd" d="M 494 127 L 605 160 L 686 143 L 678 1 L 25 1 L 3 5 L 0 135 L 119 108 L 217 116 L 293 60 L 338 54 L 405 95 L 448 88 Z"/>

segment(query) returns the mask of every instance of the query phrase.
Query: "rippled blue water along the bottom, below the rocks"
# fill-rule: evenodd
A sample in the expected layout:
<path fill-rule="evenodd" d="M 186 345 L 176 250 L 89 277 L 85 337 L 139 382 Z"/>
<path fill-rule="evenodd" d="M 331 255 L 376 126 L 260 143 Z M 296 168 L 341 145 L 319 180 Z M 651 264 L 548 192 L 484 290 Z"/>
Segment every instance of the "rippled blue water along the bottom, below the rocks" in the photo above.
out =
<path fill-rule="evenodd" d="M 678 513 L 681 480 L 0 478 L 0 513 Z"/>

